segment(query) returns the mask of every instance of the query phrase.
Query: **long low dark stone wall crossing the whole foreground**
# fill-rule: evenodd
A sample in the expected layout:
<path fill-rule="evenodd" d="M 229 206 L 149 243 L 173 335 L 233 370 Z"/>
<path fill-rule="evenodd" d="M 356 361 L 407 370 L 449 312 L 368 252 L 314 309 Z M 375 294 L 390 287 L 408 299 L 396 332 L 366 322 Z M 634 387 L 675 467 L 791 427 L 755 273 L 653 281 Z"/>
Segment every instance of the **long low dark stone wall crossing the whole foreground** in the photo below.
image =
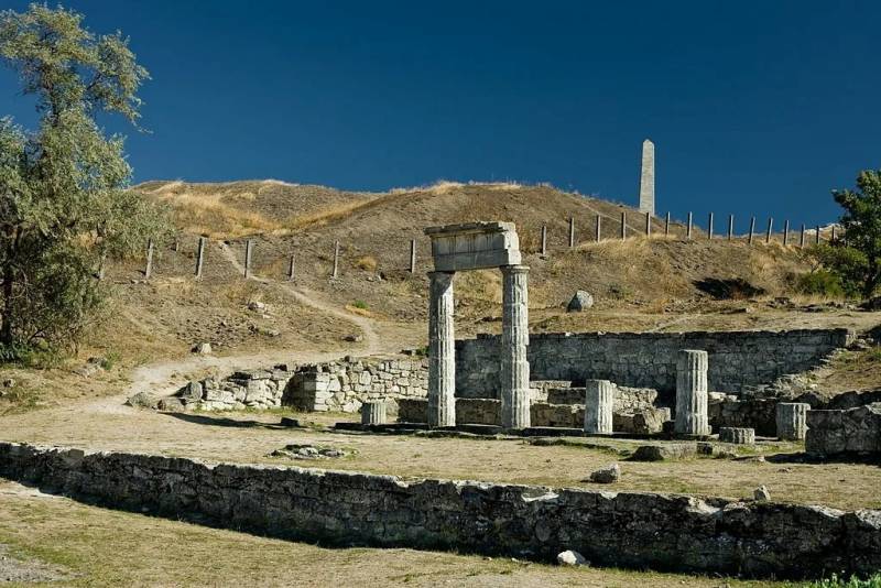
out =
<path fill-rule="evenodd" d="M 328 544 L 755 577 L 881 568 L 881 511 L 407 480 L 0 443 L 0 476 L 173 519 Z"/>

